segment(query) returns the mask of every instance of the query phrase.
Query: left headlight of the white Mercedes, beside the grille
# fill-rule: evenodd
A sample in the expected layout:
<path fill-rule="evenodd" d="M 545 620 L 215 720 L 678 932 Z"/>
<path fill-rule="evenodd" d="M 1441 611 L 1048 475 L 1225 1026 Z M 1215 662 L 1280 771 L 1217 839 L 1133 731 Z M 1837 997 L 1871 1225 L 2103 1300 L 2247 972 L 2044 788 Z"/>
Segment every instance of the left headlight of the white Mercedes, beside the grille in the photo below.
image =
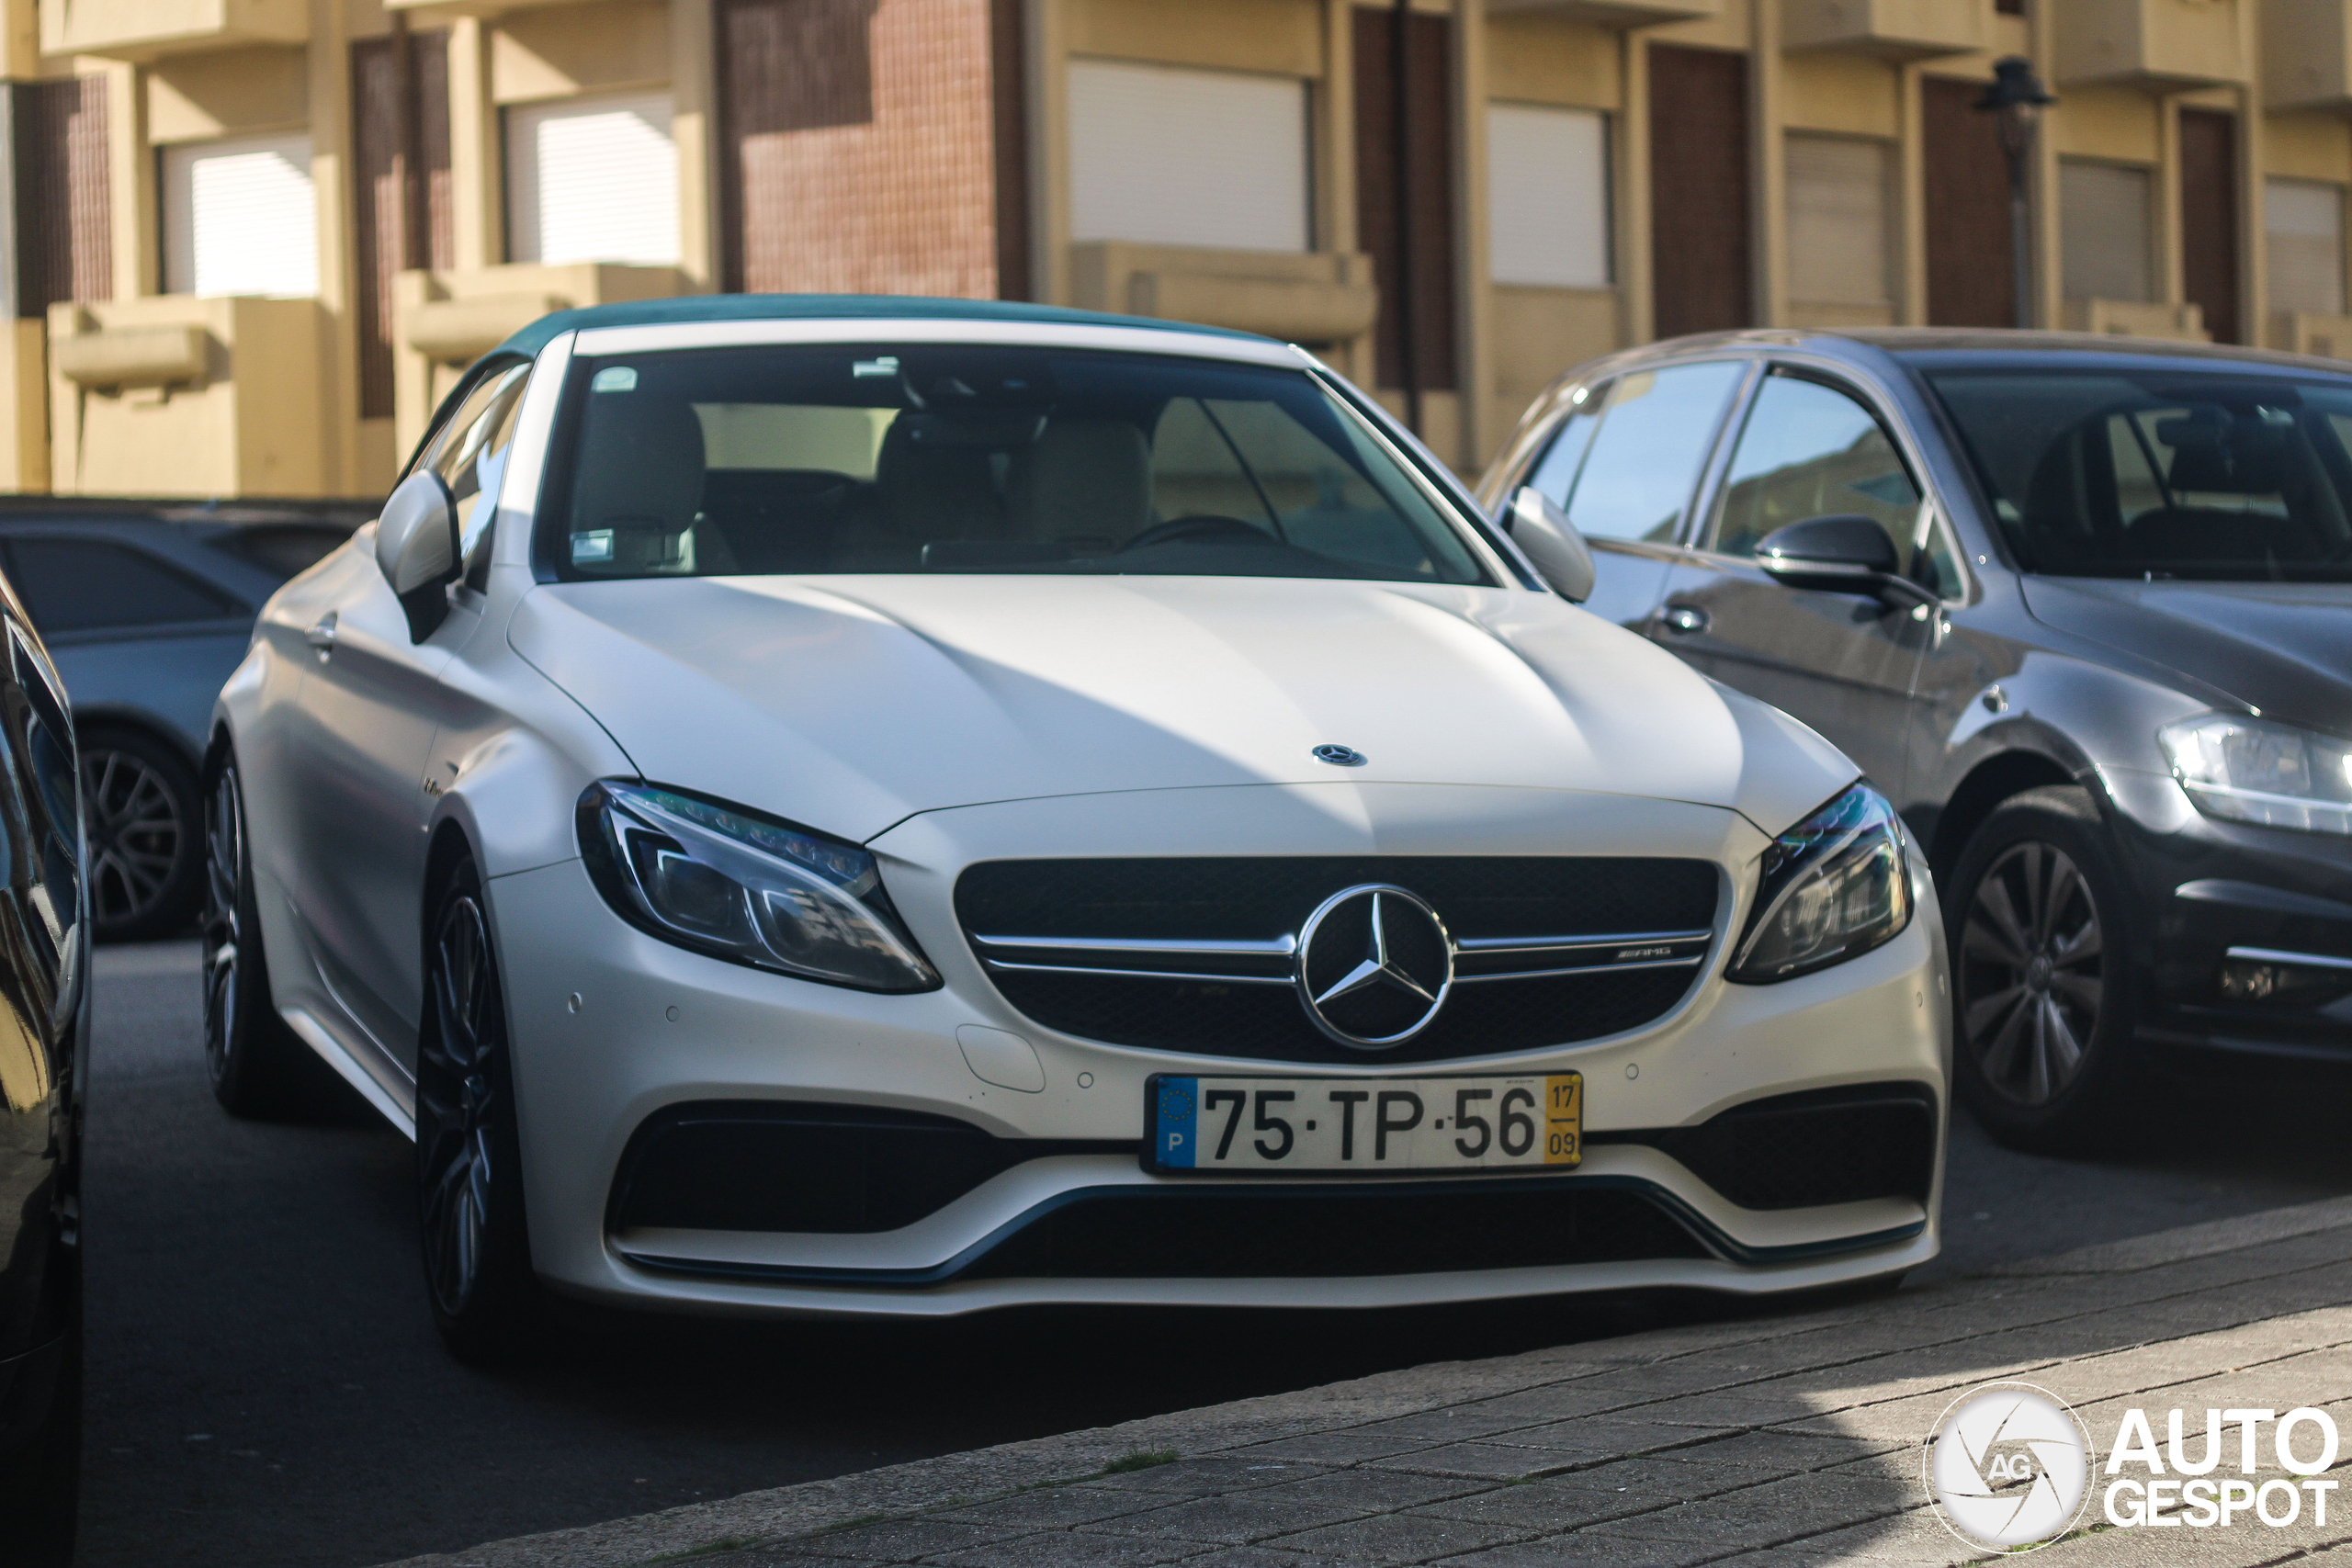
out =
<path fill-rule="evenodd" d="M 680 947 L 877 992 L 938 985 L 856 844 L 630 783 L 593 783 L 581 856 L 633 926 Z"/>

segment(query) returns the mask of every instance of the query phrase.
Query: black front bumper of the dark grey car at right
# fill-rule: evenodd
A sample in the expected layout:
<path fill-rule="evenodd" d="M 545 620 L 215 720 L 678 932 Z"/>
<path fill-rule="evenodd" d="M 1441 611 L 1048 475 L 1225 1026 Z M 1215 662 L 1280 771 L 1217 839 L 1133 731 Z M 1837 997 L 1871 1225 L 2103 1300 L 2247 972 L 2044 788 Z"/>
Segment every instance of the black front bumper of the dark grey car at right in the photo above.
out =
<path fill-rule="evenodd" d="M 2105 783 L 2152 912 L 2140 1039 L 2352 1067 L 2352 837 L 2209 818 L 2164 773 Z"/>

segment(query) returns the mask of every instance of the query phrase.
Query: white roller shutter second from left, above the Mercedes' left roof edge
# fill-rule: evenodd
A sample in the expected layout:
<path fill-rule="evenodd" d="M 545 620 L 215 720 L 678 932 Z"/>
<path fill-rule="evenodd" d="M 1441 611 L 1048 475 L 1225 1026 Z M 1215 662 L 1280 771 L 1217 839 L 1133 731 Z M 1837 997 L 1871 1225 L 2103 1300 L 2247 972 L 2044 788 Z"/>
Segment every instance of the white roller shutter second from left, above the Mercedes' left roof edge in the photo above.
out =
<path fill-rule="evenodd" d="M 670 94 L 508 108 L 506 249 L 510 261 L 675 266 Z"/>

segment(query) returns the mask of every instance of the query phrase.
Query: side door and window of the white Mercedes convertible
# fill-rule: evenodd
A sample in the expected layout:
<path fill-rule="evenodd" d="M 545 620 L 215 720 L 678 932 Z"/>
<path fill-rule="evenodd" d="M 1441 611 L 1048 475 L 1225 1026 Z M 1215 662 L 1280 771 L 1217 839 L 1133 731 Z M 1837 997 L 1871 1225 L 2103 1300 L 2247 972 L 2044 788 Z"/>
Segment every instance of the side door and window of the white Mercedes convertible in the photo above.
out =
<path fill-rule="evenodd" d="M 496 505 L 527 367 L 485 376 L 426 447 L 449 484 L 461 548 Z M 419 898 L 433 806 L 426 764 L 452 712 L 440 675 L 480 623 L 480 595 L 454 592 L 421 642 L 372 550 L 334 557 L 306 628 L 313 658 L 287 722 L 285 809 L 294 835 L 292 903 L 327 999 L 402 1072 L 414 1072 L 423 999 Z"/>

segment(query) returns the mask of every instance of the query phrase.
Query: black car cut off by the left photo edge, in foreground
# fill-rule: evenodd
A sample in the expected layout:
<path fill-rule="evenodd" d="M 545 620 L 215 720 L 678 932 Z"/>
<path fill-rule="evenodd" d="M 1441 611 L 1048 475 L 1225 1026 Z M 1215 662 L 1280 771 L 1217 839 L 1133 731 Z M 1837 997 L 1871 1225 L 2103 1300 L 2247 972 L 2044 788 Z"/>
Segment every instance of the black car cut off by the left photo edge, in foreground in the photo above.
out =
<path fill-rule="evenodd" d="M 89 922 L 73 726 L 0 585 L 0 1563 L 73 1559 Z"/>

